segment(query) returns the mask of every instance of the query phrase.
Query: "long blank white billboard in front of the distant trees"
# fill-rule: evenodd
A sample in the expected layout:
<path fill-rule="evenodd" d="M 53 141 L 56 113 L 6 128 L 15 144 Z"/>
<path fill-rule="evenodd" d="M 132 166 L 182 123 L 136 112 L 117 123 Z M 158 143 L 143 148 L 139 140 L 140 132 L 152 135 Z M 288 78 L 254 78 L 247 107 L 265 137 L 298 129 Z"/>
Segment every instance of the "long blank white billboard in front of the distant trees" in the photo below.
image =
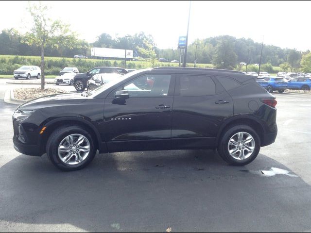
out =
<path fill-rule="evenodd" d="M 91 48 L 91 56 L 125 58 L 125 50 L 95 47 L 95 48 Z M 133 50 L 126 50 L 126 58 L 133 58 Z"/>

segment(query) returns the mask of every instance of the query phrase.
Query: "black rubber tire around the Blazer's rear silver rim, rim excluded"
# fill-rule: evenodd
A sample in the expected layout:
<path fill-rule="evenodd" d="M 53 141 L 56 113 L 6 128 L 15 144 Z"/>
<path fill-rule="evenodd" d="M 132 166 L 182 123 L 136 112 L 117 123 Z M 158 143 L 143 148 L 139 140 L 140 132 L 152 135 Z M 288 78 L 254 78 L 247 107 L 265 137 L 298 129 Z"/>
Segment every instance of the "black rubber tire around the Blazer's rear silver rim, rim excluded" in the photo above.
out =
<path fill-rule="evenodd" d="M 233 158 L 228 151 L 228 143 L 230 138 L 239 132 L 249 133 L 254 141 L 255 141 L 255 149 L 250 157 L 244 160 L 238 160 Z M 251 127 L 247 125 L 234 125 L 231 128 L 227 129 L 220 139 L 219 145 L 217 147 L 218 154 L 220 157 L 228 164 L 233 166 L 244 166 L 251 163 L 254 159 L 256 159 L 260 150 L 260 138 L 259 135 L 254 131 Z"/>

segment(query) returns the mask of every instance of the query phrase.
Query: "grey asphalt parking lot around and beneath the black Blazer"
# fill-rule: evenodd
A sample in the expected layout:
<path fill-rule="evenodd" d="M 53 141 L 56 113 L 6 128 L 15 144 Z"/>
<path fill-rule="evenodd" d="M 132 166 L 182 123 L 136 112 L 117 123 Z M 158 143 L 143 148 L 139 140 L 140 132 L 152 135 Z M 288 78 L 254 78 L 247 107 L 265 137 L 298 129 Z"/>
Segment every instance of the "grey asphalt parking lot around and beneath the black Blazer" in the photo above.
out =
<path fill-rule="evenodd" d="M 61 172 L 14 150 L 11 87 L 0 81 L 0 232 L 311 231 L 311 95 L 274 93 L 276 142 L 244 167 L 175 150 L 101 154 Z"/>

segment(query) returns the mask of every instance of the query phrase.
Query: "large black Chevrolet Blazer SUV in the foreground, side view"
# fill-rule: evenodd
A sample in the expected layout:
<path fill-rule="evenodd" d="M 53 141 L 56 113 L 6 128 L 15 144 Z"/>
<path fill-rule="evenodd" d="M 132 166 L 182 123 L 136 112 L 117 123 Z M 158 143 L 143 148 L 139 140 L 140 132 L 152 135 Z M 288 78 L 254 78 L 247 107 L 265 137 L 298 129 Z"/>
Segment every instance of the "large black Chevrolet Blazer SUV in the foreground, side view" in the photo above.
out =
<path fill-rule="evenodd" d="M 90 92 L 20 105 L 14 147 L 63 170 L 99 153 L 216 149 L 229 164 L 252 162 L 276 139 L 276 100 L 238 71 L 153 68 L 128 73 Z"/>

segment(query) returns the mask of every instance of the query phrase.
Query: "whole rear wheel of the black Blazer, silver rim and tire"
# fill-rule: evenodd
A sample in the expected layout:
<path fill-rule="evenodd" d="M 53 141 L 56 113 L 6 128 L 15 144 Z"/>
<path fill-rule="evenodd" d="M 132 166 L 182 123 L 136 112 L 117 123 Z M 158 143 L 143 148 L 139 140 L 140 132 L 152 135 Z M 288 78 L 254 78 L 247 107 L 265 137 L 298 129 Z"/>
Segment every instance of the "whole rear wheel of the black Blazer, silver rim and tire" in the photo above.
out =
<path fill-rule="evenodd" d="M 260 138 L 251 127 L 235 125 L 223 134 L 217 150 L 228 164 L 244 166 L 257 157 L 260 150 Z"/>

